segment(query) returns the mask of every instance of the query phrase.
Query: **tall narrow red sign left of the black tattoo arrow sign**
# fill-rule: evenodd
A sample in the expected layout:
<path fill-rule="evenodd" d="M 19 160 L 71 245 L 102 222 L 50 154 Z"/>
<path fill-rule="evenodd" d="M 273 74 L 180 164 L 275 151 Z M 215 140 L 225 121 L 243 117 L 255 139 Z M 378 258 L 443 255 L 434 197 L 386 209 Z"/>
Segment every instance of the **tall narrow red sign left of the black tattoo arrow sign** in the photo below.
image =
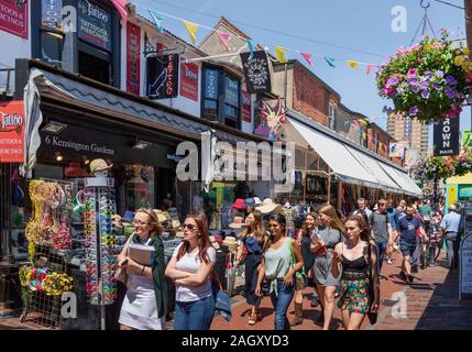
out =
<path fill-rule="evenodd" d="M 127 22 L 127 91 L 139 96 L 141 79 L 141 29 Z"/>

